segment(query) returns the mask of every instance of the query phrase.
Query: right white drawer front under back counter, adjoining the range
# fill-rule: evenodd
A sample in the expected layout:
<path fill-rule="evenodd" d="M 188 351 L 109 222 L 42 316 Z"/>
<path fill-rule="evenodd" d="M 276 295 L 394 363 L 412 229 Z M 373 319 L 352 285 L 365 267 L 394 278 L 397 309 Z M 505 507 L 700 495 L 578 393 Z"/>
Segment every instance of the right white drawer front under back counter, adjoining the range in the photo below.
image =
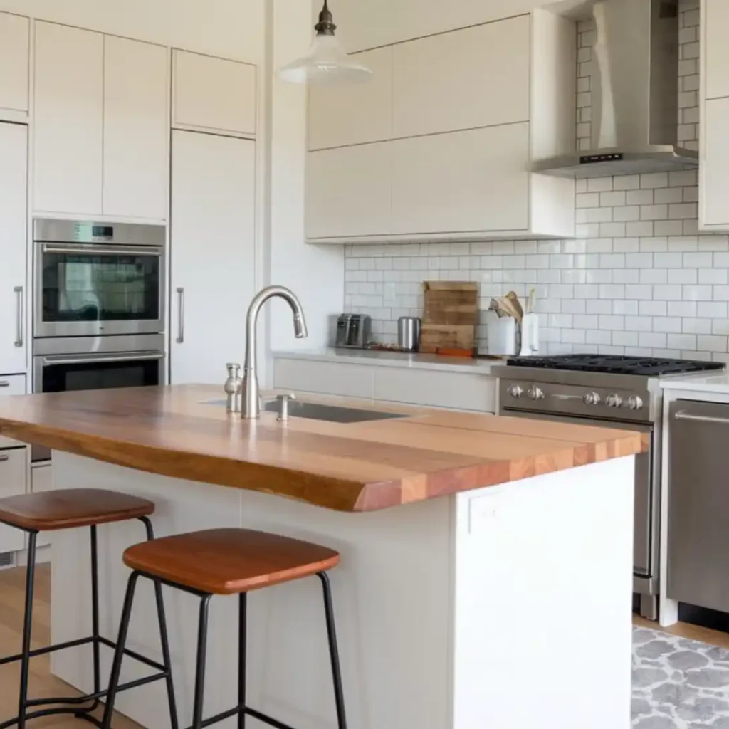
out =
<path fill-rule="evenodd" d="M 383 367 L 375 374 L 375 399 L 494 413 L 496 380 L 483 375 Z"/>

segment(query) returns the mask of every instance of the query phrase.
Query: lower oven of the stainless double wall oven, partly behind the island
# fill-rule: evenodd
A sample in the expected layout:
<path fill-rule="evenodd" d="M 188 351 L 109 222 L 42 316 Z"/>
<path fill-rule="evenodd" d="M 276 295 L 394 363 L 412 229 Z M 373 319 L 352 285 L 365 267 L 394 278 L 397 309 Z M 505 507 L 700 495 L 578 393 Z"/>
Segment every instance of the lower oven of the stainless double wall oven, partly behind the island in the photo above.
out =
<path fill-rule="evenodd" d="M 162 351 L 51 354 L 33 358 L 33 391 L 65 392 L 165 383 Z M 33 461 L 50 459 L 50 449 L 34 445 Z"/>

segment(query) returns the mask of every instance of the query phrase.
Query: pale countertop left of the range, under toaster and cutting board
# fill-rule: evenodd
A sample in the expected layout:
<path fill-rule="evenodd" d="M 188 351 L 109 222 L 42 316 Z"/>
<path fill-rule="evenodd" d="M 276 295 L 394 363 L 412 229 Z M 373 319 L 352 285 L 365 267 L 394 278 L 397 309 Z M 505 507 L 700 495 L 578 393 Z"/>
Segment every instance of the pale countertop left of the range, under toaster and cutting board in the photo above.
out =
<path fill-rule="evenodd" d="M 405 352 L 373 351 L 368 349 L 320 349 L 316 351 L 274 352 L 274 359 L 308 359 L 311 362 L 341 362 L 343 364 L 377 364 L 379 367 L 409 367 L 414 370 L 490 375 L 491 367 L 504 364 L 503 359 L 467 359 L 437 354 L 407 354 Z"/>

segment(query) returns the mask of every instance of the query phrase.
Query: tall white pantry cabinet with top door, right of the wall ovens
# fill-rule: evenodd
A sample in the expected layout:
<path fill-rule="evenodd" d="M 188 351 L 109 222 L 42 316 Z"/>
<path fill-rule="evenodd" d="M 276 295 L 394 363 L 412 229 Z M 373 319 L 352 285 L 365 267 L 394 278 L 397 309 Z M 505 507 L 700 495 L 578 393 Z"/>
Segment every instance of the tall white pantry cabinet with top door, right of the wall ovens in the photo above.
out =
<path fill-rule="evenodd" d="M 256 69 L 174 51 L 171 383 L 222 383 L 255 294 Z"/>

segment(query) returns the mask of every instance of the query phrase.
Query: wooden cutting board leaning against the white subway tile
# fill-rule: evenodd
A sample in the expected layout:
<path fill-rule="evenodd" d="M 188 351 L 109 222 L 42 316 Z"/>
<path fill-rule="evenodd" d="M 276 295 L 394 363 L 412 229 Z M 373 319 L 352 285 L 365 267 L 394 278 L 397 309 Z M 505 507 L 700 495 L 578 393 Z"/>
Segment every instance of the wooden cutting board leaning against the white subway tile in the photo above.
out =
<path fill-rule="evenodd" d="M 473 351 L 478 323 L 478 284 L 471 281 L 424 281 L 420 351 Z"/>

